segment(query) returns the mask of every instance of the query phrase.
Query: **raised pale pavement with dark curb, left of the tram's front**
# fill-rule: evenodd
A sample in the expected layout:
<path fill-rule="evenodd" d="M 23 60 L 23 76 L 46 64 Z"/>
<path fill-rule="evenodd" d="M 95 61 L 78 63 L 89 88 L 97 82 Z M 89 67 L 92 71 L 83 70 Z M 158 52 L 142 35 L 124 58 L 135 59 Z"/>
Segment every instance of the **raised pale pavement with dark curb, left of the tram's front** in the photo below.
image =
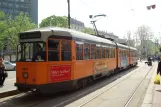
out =
<path fill-rule="evenodd" d="M 15 78 L 6 78 L 4 86 L 0 87 L 0 98 L 8 97 L 19 93 L 17 88 L 14 86 L 15 81 Z"/>

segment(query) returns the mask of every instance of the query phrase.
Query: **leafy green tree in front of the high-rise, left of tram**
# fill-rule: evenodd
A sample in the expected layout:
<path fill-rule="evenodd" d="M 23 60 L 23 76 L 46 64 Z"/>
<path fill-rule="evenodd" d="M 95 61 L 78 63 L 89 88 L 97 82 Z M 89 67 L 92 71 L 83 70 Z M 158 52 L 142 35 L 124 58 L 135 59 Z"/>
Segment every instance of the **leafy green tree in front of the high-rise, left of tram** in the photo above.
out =
<path fill-rule="evenodd" d="M 18 34 L 20 32 L 35 28 L 36 25 L 31 22 L 30 18 L 20 13 L 16 18 L 12 18 L 11 15 L 5 15 L 3 13 L 0 33 L 0 50 L 7 46 L 7 49 L 16 49 L 18 44 Z"/>

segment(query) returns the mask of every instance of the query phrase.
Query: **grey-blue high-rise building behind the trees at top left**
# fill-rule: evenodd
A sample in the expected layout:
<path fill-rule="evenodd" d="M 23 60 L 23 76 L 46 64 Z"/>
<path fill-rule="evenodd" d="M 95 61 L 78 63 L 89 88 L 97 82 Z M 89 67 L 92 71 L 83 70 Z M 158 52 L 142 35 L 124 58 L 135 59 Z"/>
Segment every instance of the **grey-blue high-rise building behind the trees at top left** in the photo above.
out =
<path fill-rule="evenodd" d="M 32 22 L 38 24 L 38 0 L 0 0 L 0 11 L 13 17 L 23 12 L 31 17 Z"/>

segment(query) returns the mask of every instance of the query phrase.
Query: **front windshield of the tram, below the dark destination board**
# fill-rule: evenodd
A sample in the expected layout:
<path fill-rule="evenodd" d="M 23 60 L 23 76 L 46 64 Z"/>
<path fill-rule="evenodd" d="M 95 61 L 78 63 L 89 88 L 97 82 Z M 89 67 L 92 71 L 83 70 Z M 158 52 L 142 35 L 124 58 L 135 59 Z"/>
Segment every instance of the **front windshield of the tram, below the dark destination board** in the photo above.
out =
<path fill-rule="evenodd" d="M 21 43 L 18 45 L 18 61 L 46 61 L 45 42 Z"/>

